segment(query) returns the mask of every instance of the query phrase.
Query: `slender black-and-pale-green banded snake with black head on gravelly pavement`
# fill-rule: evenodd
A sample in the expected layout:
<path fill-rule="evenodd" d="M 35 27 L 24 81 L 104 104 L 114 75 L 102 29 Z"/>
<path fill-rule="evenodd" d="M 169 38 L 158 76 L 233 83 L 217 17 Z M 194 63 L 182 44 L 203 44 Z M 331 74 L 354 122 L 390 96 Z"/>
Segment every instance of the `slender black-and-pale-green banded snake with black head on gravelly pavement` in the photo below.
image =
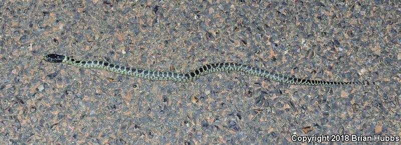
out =
<path fill-rule="evenodd" d="M 175 81 L 180 83 L 186 83 L 195 81 L 200 76 L 210 73 L 222 72 L 222 71 L 240 71 L 250 75 L 265 77 L 276 82 L 290 85 L 322 86 L 322 85 L 365 84 L 364 82 L 332 82 L 332 81 L 309 80 L 295 77 L 287 77 L 285 75 L 275 74 L 258 67 L 253 67 L 250 65 L 235 63 L 235 62 L 209 63 L 200 66 L 199 68 L 194 69 L 192 71 L 179 73 L 179 72 L 153 71 L 141 68 L 125 67 L 112 64 L 109 61 L 82 60 L 58 54 L 45 54 L 43 56 L 43 59 L 47 62 L 52 62 L 52 63 L 64 63 L 79 68 L 98 68 L 117 74 L 122 74 L 147 80 L 154 80 L 154 81 Z"/>

